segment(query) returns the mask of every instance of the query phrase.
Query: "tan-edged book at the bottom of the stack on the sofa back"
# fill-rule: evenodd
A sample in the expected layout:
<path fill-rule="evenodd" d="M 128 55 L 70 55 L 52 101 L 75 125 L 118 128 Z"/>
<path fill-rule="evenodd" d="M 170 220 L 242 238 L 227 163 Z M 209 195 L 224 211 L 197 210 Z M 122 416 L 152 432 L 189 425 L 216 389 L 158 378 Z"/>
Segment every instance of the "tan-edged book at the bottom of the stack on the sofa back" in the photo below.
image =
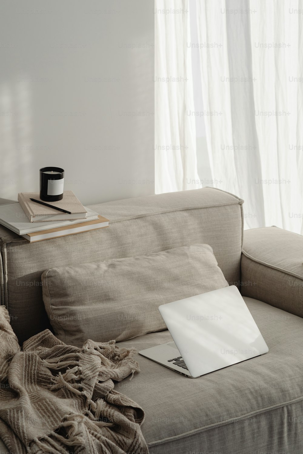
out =
<path fill-rule="evenodd" d="M 67 235 L 74 235 L 75 233 L 89 232 L 99 228 L 109 227 L 109 220 L 106 217 L 98 215 L 98 219 L 88 222 L 79 222 L 70 226 L 57 227 L 41 232 L 32 232 L 21 237 L 25 238 L 30 243 L 50 240 L 52 238 L 65 237 Z"/>

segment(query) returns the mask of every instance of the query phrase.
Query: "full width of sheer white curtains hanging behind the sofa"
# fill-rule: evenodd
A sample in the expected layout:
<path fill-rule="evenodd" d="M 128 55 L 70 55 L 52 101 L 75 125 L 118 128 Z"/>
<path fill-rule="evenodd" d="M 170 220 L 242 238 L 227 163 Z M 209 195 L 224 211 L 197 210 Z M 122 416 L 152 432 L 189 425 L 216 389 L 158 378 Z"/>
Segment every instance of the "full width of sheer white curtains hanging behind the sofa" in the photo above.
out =
<path fill-rule="evenodd" d="M 157 192 L 193 188 L 190 175 L 203 181 L 194 116 L 184 114 L 199 104 L 190 82 L 198 47 L 212 178 L 244 199 L 245 228 L 276 225 L 302 234 L 303 0 L 156 3 L 189 8 L 198 31 L 192 43 L 187 15 L 156 14 L 158 74 L 190 79 L 178 87 L 155 82 L 156 142 L 189 145 L 183 154 L 155 151 Z"/>

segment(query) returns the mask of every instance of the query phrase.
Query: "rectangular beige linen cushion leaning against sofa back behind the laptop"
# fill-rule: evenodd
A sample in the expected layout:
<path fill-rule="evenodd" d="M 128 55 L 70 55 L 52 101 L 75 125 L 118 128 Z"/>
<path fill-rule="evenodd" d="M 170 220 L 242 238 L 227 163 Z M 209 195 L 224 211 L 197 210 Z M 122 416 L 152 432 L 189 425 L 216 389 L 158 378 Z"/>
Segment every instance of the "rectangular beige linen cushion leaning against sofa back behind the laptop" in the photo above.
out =
<path fill-rule="evenodd" d="M 53 268 L 42 284 L 55 335 L 77 346 L 163 331 L 159 305 L 228 286 L 208 244 Z"/>

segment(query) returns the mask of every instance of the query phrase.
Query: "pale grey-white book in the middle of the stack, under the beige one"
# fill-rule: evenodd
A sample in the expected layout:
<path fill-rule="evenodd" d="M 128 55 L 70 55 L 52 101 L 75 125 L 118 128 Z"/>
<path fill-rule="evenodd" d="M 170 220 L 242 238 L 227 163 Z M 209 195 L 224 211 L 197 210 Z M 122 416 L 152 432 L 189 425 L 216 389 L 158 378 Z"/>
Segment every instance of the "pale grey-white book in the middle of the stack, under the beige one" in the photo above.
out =
<path fill-rule="evenodd" d="M 84 207 L 87 211 L 85 219 L 74 219 L 72 221 L 47 221 L 47 222 L 30 222 L 20 203 L 9 203 L 0 205 L 0 224 L 9 228 L 17 235 L 25 235 L 27 233 L 40 232 L 41 230 L 49 230 L 56 227 L 72 226 L 79 222 L 94 221 L 98 219 L 97 212 Z"/>

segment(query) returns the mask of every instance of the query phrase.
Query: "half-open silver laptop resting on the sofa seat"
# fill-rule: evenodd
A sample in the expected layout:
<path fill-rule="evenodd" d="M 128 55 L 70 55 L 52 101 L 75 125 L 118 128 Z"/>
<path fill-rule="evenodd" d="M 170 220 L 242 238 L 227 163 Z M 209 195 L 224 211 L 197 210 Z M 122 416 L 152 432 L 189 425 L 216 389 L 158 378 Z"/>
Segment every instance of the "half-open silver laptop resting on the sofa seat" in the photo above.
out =
<path fill-rule="evenodd" d="M 139 354 L 189 378 L 268 352 L 236 286 L 164 304 L 159 311 L 174 342 Z"/>

